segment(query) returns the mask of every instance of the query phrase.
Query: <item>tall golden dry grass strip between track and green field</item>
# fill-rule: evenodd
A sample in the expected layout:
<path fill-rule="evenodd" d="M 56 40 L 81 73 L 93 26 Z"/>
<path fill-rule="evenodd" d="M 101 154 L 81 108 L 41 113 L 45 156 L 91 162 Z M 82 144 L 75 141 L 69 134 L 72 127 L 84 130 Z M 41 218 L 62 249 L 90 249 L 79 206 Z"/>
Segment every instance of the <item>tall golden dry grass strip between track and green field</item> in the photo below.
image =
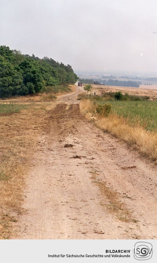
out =
<path fill-rule="evenodd" d="M 157 134 L 142 128 L 138 123 L 135 126 L 129 125 L 129 119 L 119 117 L 117 114 L 110 114 L 108 117 L 93 115 L 95 105 L 90 100 L 80 102 L 80 110 L 88 119 L 94 119 L 95 124 L 102 130 L 110 132 L 112 135 L 138 149 L 144 156 L 156 162 L 157 160 Z"/>

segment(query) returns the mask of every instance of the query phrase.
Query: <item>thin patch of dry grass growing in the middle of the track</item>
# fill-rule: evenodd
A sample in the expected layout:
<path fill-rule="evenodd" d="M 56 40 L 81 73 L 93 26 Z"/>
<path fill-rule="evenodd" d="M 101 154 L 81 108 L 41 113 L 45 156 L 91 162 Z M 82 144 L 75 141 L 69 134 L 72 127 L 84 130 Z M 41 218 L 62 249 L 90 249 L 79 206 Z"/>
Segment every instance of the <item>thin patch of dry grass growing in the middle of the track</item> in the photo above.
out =
<path fill-rule="evenodd" d="M 108 199 L 107 205 L 106 203 L 101 203 L 101 205 L 106 205 L 107 209 L 114 213 L 121 221 L 136 222 L 136 220 L 131 217 L 133 211 L 128 209 L 126 204 L 120 200 L 119 193 L 107 187 L 106 183 L 99 178 L 99 173 L 95 171 L 91 171 L 90 173 L 92 173 L 91 179 L 93 180 L 93 183 L 99 187 L 102 196 Z"/>

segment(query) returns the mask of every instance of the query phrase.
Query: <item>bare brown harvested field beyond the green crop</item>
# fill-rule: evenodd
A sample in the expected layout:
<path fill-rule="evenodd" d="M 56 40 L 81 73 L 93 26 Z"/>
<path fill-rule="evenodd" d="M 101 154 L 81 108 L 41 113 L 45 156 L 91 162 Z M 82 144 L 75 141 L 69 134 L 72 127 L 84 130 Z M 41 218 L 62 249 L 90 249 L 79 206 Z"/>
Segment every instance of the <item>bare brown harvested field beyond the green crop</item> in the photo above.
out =
<path fill-rule="evenodd" d="M 140 88 L 131 88 L 131 87 L 117 87 L 117 86 L 103 86 L 103 85 L 92 85 L 93 89 L 92 92 L 96 92 L 97 95 L 103 94 L 104 92 L 116 92 L 121 91 L 124 93 L 129 93 L 138 96 L 149 96 L 152 99 L 157 99 L 157 90 L 150 88 L 143 87 L 141 85 Z"/>

